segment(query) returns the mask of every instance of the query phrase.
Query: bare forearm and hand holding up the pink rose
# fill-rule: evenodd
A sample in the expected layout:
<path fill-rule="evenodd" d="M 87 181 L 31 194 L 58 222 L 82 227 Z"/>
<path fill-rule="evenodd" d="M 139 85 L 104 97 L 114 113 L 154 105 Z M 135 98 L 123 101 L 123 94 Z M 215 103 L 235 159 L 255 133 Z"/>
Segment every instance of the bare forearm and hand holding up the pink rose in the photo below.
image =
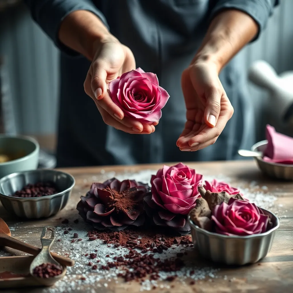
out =
<path fill-rule="evenodd" d="M 59 40 L 92 62 L 84 90 L 96 103 L 106 124 L 128 133 L 155 131 L 154 125 L 158 122 L 148 125 L 124 117 L 123 111 L 110 98 L 108 84 L 135 69 L 135 60 L 131 50 L 111 35 L 96 15 L 85 10 L 70 13 L 60 25 Z"/>

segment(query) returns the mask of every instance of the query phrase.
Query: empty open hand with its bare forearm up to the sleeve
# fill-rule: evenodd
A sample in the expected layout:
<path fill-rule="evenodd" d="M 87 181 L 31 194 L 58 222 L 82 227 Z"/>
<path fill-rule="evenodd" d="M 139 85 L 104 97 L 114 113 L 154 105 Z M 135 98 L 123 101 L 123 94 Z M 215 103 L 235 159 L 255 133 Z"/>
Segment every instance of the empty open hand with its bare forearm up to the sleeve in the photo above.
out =
<path fill-rule="evenodd" d="M 232 117 L 234 110 L 219 72 L 257 32 L 253 18 L 239 10 L 226 9 L 212 20 L 201 47 L 182 74 L 187 122 L 177 140 L 181 151 L 213 144 Z"/>

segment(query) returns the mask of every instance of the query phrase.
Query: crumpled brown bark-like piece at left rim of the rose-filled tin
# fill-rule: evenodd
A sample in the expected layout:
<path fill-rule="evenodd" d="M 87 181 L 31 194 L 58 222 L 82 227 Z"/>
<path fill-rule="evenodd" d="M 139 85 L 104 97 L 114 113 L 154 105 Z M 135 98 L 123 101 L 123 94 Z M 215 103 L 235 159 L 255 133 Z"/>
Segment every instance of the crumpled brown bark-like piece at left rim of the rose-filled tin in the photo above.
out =
<path fill-rule="evenodd" d="M 200 197 L 195 201 L 195 207 L 190 211 L 190 219 L 200 228 L 207 231 L 212 229 L 211 215 L 212 211 L 209 208 L 207 201 Z"/>

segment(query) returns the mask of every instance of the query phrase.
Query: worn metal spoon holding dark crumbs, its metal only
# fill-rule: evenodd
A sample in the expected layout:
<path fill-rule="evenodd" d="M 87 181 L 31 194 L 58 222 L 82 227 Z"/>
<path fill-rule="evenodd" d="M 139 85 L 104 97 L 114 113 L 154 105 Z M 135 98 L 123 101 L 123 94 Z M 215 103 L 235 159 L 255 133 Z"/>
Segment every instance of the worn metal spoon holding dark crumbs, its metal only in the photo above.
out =
<path fill-rule="evenodd" d="M 55 227 L 45 227 L 42 231 L 42 236 L 41 236 L 42 250 L 30 264 L 30 274 L 33 277 L 35 277 L 33 275 L 34 268 L 43 263 L 52 263 L 63 268 L 63 272 L 60 275 L 55 277 L 49 277 L 49 278 L 35 277 L 36 279 L 38 279 L 39 283 L 46 286 L 51 286 L 57 280 L 64 277 L 64 275 L 66 274 L 66 267 L 60 265 L 60 263 L 54 260 L 54 258 L 52 258 L 51 256 L 50 248 L 54 239 L 55 239 Z"/>

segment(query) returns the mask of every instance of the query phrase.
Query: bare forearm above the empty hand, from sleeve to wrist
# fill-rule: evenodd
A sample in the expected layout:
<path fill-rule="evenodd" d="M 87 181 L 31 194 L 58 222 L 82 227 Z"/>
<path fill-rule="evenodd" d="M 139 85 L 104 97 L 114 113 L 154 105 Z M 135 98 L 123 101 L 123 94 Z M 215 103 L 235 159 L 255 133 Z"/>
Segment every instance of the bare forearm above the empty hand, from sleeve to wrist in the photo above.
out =
<path fill-rule="evenodd" d="M 212 20 L 194 62 L 208 61 L 218 72 L 258 33 L 258 25 L 248 14 L 225 10 Z"/>

